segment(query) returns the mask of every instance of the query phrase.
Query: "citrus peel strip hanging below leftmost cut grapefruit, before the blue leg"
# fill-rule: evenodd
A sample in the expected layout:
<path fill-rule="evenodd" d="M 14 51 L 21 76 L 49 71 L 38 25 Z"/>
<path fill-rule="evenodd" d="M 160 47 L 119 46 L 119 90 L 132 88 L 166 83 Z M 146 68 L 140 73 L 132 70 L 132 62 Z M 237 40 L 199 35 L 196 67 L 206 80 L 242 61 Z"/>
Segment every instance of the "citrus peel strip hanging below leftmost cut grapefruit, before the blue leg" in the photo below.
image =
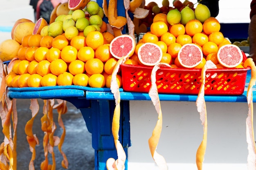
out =
<path fill-rule="evenodd" d="M 114 158 L 109 158 L 106 162 L 106 166 L 108 170 L 124 170 L 125 169 L 125 161 L 126 161 L 126 153 L 124 152 L 124 148 L 119 141 L 119 128 L 120 128 L 120 91 L 117 83 L 117 73 L 119 71 L 120 65 L 128 58 L 129 56 L 121 57 L 115 68 L 112 72 L 110 89 L 115 98 L 115 110 L 112 119 L 112 134 L 115 141 L 115 147 L 117 149 L 117 160 Z"/>

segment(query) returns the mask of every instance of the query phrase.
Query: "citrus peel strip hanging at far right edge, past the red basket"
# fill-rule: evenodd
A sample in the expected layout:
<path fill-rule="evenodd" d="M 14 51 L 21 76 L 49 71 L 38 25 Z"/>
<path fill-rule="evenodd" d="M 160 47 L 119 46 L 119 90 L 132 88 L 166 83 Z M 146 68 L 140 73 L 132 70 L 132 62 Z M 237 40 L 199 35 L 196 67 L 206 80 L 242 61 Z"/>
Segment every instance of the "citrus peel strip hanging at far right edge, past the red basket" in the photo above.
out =
<path fill-rule="evenodd" d="M 256 66 L 252 58 L 247 58 L 244 63 L 244 67 L 251 67 L 251 80 L 247 89 L 247 103 L 249 107 L 248 115 L 246 118 L 246 140 L 248 148 L 247 167 L 249 170 L 256 170 L 256 147 L 254 140 L 254 128 L 253 128 L 253 97 L 252 88 L 256 82 Z"/>

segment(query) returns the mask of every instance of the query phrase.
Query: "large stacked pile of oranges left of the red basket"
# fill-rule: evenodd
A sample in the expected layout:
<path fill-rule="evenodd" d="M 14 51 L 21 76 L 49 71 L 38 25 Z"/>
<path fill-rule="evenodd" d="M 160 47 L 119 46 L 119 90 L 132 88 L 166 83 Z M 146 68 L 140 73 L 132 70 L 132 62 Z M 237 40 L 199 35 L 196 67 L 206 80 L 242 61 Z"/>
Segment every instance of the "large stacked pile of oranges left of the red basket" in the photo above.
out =
<path fill-rule="evenodd" d="M 67 40 L 65 35 L 24 36 L 6 84 L 9 87 L 110 87 L 117 59 L 110 54 L 105 37 L 99 31 L 72 40 Z M 121 86 L 121 76 L 117 79 Z"/>

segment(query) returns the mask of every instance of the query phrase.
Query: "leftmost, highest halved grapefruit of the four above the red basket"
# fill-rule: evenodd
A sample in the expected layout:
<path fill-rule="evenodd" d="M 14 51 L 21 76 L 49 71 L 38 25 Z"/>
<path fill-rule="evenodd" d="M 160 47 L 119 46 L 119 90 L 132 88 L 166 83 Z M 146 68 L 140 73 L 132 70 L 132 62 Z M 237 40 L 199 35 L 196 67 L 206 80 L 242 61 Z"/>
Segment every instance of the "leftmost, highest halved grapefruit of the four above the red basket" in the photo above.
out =
<path fill-rule="evenodd" d="M 110 42 L 110 53 L 117 59 L 124 56 L 132 56 L 135 46 L 136 42 L 132 36 L 127 34 L 119 35 Z"/>

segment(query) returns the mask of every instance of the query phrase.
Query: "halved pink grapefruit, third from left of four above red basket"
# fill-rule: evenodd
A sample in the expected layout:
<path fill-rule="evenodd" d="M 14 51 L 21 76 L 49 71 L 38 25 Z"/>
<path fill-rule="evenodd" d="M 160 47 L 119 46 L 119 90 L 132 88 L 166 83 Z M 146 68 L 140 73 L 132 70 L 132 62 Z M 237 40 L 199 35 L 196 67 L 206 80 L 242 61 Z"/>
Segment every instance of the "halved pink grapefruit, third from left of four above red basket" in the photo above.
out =
<path fill-rule="evenodd" d="M 185 68 L 193 68 L 203 59 L 202 50 L 196 44 L 184 44 L 177 56 L 180 64 Z"/>

